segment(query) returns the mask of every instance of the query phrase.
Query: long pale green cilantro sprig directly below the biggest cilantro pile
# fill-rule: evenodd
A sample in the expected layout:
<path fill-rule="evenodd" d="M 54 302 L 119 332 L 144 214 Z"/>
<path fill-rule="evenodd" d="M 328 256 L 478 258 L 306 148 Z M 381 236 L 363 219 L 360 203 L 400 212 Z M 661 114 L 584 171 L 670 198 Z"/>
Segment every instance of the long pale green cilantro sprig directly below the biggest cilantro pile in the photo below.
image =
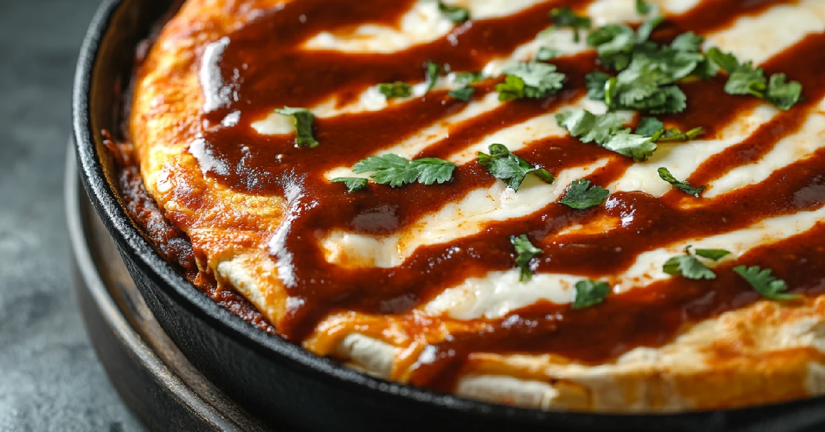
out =
<path fill-rule="evenodd" d="M 614 113 L 596 116 L 587 110 L 556 114 L 559 126 L 584 143 L 596 142 L 607 150 L 627 156 L 637 162 L 647 160 L 656 150 L 658 134 L 631 134 L 622 126 L 622 118 Z"/>

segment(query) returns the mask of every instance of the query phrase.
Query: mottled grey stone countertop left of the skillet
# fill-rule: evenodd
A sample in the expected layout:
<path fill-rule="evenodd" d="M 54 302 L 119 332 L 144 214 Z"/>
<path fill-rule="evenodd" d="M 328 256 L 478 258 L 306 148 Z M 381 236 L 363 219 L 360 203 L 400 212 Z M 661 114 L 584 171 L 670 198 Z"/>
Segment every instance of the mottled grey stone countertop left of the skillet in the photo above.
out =
<path fill-rule="evenodd" d="M 98 0 L 0 2 L 0 431 L 133 431 L 71 287 L 63 202 L 75 60 Z"/>

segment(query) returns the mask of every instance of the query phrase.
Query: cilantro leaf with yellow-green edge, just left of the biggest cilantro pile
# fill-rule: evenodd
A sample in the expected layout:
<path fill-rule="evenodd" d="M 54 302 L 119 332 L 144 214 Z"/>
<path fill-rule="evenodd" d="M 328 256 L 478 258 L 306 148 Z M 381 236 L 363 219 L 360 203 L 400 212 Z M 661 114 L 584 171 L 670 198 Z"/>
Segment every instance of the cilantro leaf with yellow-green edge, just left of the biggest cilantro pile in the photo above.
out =
<path fill-rule="evenodd" d="M 545 97 L 562 88 L 564 74 L 556 72 L 553 64 L 515 63 L 502 69 L 507 74 L 504 83 L 496 85 L 498 100 L 509 101 L 523 97 Z"/>

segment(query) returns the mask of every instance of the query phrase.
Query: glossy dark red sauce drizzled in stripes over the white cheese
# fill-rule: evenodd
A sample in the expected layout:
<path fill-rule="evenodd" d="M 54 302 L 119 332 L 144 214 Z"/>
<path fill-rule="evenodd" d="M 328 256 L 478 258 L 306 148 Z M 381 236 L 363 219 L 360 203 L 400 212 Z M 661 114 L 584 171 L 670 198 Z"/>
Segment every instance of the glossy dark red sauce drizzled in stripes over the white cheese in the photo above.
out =
<path fill-rule="evenodd" d="M 427 60 L 450 64 L 455 71 L 479 70 L 491 59 L 510 55 L 516 46 L 549 26 L 547 17 L 552 8 L 567 4 L 583 7 L 586 3 L 546 2 L 508 17 L 468 21 L 449 36 L 386 55 L 309 51 L 300 46 L 320 31 L 335 32 L 367 22 L 393 25 L 413 0 L 290 2 L 229 35 L 214 71 L 224 78 L 233 77 L 224 83 L 224 90 L 229 89 L 232 97 L 223 106 L 202 114 L 206 150 L 226 169 L 207 175 L 238 192 L 286 197 L 290 218 L 285 221 L 283 250 L 291 256 L 292 274 L 285 289 L 290 297 L 301 301 L 290 302 L 293 306 L 278 329 L 281 335 L 299 342 L 331 311 L 403 314 L 466 278 L 513 268 L 510 235 L 526 233 L 543 250 L 537 273 L 605 278 L 629 268 L 639 254 L 649 249 L 822 207 L 825 150 L 776 170 L 761 183 L 699 201 L 681 192 L 669 192 L 660 198 L 643 192 L 611 192 L 604 205 L 583 211 L 551 203 L 528 216 L 489 222 L 477 234 L 447 244 L 422 246 L 394 268 L 348 269 L 324 259 L 316 240 L 318 233 L 337 228 L 376 235 L 398 232 L 474 189 L 488 188 L 499 181 L 475 161 L 455 169 L 450 182 L 429 186 L 390 188 L 370 183 L 364 191 L 347 193 L 341 184 L 323 177 L 329 169 L 352 166 L 416 135 L 431 123 L 459 112 L 466 102 L 436 91 L 380 112 L 319 118 L 314 135 L 320 145 L 314 149 L 296 148 L 293 136 L 258 135 L 250 126 L 253 120 L 276 107 L 312 107 L 331 94 L 339 95 L 341 104 L 351 102 L 377 83 L 420 82 L 422 64 Z M 777 3 L 783 2 L 705 1 L 684 15 L 670 17 L 653 36 L 667 40 L 688 30 L 718 31 L 737 17 L 757 14 Z M 558 95 L 502 102 L 490 112 L 451 127 L 449 138 L 428 146 L 417 157 L 446 158 L 485 135 L 574 102 L 584 96 L 584 74 L 598 68 L 592 53 L 551 63 L 568 77 Z M 799 130 L 808 112 L 825 96 L 821 75 L 825 70 L 825 33 L 806 36 L 762 67 L 768 74 L 785 72 L 802 83 L 804 101 L 775 116 L 741 144 L 711 156 L 691 176 L 691 183 L 712 185 L 714 179 L 732 169 L 761 159 L 779 140 Z M 720 76 L 681 85 L 688 97 L 688 109 L 662 116 L 662 120 L 683 128 L 702 126 L 705 135 L 700 140 L 713 138 L 760 103 L 752 97 L 724 93 L 724 79 Z M 492 82 L 482 84 L 473 100 L 493 91 L 493 86 Z M 234 126 L 221 126 L 224 117 L 233 112 L 240 112 L 240 121 Z M 633 164 L 569 136 L 528 143 L 516 154 L 552 173 L 609 159 L 605 167 L 587 176 L 603 186 L 620 178 Z M 682 207 L 686 202 L 698 202 L 700 207 Z M 372 222 L 363 223 L 365 216 L 370 216 L 366 219 Z M 568 225 L 605 216 L 621 219 L 623 224 L 604 233 L 557 235 Z M 686 323 L 760 298 L 730 271 L 738 263 L 772 268 L 777 277 L 788 282 L 791 292 L 825 292 L 823 240 L 825 223 L 820 223 L 790 240 L 752 249 L 736 263 L 719 266 L 719 277 L 714 280 L 669 278 L 645 289 L 611 294 L 604 303 L 582 311 L 549 302 L 514 311 L 506 319 L 491 320 L 483 333 L 454 335 L 436 345 L 436 355 L 428 357 L 437 360 L 422 364 L 412 381 L 421 386 L 445 387 L 443 383 L 452 382 L 464 359 L 473 352 L 552 352 L 597 363 L 636 346 L 665 344 Z M 260 320 L 260 314 L 256 314 L 247 316 Z"/>

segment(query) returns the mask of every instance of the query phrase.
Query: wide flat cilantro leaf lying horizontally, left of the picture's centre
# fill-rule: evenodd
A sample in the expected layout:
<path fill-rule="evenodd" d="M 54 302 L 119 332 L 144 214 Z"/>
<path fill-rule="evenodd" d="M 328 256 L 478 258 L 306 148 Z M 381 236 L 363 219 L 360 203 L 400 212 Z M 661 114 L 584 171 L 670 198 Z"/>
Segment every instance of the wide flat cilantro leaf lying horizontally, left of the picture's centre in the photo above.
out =
<path fill-rule="evenodd" d="M 455 164 L 438 158 L 404 159 L 398 154 L 370 156 L 352 167 L 353 173 L 375 171 L 370 178 L 375 183 L 396 188 L 408 183 L 444 183 L 453 176 Z"/>

